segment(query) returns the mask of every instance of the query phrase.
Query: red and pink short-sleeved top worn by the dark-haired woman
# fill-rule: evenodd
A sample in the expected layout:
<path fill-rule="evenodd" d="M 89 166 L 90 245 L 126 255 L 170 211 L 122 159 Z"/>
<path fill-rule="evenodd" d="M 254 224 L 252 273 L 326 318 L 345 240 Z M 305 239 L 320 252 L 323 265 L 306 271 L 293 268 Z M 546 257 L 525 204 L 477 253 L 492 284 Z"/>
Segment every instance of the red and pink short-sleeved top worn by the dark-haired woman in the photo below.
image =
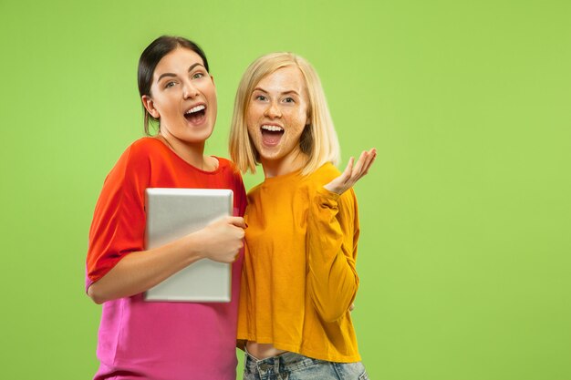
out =
<path fill-rule="evenodd" d="M 203 171 L 161 140 L 135 141 L 109 172 L 89 230 L 86 288 L 125 255 L 144 250 L 145 189 L 234 191 L 234 215 L 244 215 L 242 178 L 227 159 Z M 230 303 L 146 303 L 142 294 L 103 303 L 96 379 L 233 379 L 237 301 L 243 255 L 233 264 Z M 118 377 L 113 377 L 118 376 Z"/>

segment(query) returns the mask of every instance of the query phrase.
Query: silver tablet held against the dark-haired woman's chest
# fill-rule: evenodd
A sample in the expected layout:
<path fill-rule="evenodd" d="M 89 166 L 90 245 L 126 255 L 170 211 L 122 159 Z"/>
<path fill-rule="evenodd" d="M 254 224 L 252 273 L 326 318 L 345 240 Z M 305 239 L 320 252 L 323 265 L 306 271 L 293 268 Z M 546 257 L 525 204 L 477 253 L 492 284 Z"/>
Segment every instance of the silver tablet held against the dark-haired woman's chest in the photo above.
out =
<path fill-rule="evenodd" d="M 202 229 L 212 221 L 232 215 L 232 190 L 146 190 L 145 247 L 156 248 Z M 151 288 L 146 301 L 228 303 L 232 264 L 202 259 Z"/>

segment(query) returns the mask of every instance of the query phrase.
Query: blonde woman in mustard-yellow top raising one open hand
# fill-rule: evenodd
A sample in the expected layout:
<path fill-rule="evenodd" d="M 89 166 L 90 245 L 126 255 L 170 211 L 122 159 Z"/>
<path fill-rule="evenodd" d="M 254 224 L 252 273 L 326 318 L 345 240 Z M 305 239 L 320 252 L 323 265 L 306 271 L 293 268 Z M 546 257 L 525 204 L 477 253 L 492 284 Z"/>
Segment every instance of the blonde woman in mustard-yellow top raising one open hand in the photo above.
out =
<path fill-rule="evenodd" d="M 248 193 L 238 317 L 244 379 L 367 379 L 349 310 L 358 290 L 353 184 L 376 150 L 349 159 L 317 73 L 291 53 L 261 56 L 238 87 L 230 154 L 242 171 L 262 164 Z"/>

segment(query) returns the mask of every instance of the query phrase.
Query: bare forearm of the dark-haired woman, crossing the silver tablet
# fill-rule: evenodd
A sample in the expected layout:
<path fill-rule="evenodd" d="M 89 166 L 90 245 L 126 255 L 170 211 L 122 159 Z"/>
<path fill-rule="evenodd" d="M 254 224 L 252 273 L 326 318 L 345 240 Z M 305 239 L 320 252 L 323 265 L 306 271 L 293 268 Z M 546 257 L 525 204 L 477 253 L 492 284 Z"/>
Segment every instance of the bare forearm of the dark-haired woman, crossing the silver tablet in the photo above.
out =
<path fill-rule="evenodd" d="M 173 273 L 202 259 L 194 234 L 148 251 L 131 252 L 123 257 L 98 282 L 88 288 L 95 303 L 129 297 L 145 292 Z"/>

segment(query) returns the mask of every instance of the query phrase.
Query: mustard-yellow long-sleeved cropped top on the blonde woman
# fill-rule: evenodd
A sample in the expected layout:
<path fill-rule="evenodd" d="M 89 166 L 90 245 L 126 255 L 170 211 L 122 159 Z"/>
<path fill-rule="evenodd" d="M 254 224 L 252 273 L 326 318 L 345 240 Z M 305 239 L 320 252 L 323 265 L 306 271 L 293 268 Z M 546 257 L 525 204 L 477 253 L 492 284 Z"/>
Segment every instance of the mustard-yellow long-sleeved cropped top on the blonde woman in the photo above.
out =
<path fill-rule="evenodd" d="M 238 339 L 331 362 L 358 362 L 349 306 L 358 290 L 354 191 L 323 188 L 325 164 L 265 179 L 248 193 Z"/>

